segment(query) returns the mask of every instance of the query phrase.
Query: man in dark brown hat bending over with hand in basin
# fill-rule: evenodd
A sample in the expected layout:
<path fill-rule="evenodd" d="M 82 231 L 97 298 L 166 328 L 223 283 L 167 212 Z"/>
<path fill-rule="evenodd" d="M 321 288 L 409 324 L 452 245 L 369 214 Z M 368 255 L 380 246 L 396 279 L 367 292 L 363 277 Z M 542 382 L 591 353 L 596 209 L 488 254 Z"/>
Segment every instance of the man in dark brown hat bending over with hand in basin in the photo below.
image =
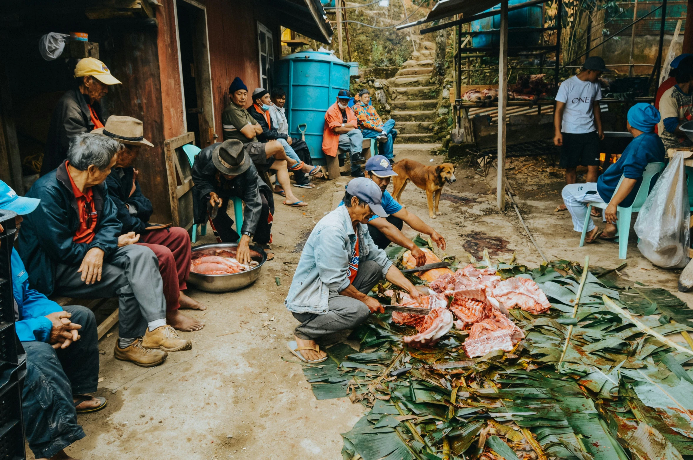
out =
<path fill-rule="evenodd" d="M 226 208 L 229 198 L 238 196 L 245 203 L 245 210 L 236 258 L 241 264 L 250 261 L 248 244 L 252 239 L 271 260 L 273 253 L 267 243 L 272 241 L 272 190 L 261 181 L 253 161 L 243 149 L 243 142 L 229 139 L 202 149 L 193 164 L 193 181 L 195 223 L 207 221 L 207 203 L 217 205 L 217 217 L 212 222 L 220 238 L 225 242 L 237 241 L 239 235 L 231 228 L 234 221 Z"/>

